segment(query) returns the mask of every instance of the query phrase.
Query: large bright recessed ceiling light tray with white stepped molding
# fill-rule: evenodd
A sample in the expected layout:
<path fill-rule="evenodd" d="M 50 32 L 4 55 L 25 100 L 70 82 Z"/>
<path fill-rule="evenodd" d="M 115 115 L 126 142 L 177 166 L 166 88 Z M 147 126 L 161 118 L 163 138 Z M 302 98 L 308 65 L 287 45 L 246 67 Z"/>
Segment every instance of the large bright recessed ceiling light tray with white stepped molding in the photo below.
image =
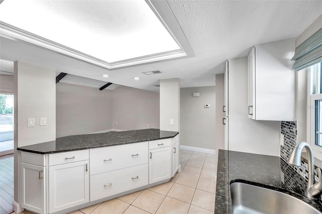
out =
<path fill-rule="evenodd" d="M 4 1 L 0 33 L 108 69 L 193 56 L 165 0 Z"/>

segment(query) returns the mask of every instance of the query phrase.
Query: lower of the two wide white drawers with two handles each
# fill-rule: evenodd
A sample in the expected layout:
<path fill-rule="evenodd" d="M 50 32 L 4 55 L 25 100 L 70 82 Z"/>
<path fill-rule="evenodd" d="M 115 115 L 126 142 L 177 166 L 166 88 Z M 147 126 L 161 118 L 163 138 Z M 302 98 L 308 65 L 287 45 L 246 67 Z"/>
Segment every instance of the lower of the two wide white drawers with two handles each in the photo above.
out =
<path fill-rule="evenodd" d="M 98 200 L 148 184 L 148 164 L 91 175 L 90 199 Z"/>

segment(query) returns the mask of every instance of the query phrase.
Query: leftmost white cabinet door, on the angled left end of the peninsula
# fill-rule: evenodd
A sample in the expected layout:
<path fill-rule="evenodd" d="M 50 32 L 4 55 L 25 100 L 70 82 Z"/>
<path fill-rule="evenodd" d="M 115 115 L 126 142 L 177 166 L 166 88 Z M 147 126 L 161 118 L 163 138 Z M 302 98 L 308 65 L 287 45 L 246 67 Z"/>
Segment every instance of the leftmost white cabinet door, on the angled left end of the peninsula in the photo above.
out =
<path fill-rule="evenodd" d="M 33 164 L 21 163 L 21 206 L 45 213 L 45 175 L 46 168 Z"/>

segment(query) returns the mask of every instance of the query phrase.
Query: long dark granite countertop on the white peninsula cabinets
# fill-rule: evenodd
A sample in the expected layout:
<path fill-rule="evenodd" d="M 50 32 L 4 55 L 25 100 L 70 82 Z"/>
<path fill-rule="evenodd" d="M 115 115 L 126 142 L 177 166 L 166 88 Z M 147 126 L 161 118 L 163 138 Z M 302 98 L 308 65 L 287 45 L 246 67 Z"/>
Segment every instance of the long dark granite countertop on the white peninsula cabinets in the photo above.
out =
<path fill-rule="evenodd" d="M 50 154 L 173 138 L 178 134 L 179 132 L 162 131 L 159 129 L 141 129 L 123 132 L 73 135 L 57 138 L 55 141 L 19 147 L 17 150 L 38 154 Z"/>

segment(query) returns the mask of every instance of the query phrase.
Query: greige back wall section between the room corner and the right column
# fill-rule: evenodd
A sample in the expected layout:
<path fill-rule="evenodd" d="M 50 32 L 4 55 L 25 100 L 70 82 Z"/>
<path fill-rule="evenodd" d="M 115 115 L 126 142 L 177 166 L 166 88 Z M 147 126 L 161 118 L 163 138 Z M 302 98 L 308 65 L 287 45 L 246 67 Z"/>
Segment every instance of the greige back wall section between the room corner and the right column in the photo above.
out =
<path fill-rule="evenodd" d="M 113 129 L 158 129 L 159 93 L 119 86 L 113 90 Z"/>

